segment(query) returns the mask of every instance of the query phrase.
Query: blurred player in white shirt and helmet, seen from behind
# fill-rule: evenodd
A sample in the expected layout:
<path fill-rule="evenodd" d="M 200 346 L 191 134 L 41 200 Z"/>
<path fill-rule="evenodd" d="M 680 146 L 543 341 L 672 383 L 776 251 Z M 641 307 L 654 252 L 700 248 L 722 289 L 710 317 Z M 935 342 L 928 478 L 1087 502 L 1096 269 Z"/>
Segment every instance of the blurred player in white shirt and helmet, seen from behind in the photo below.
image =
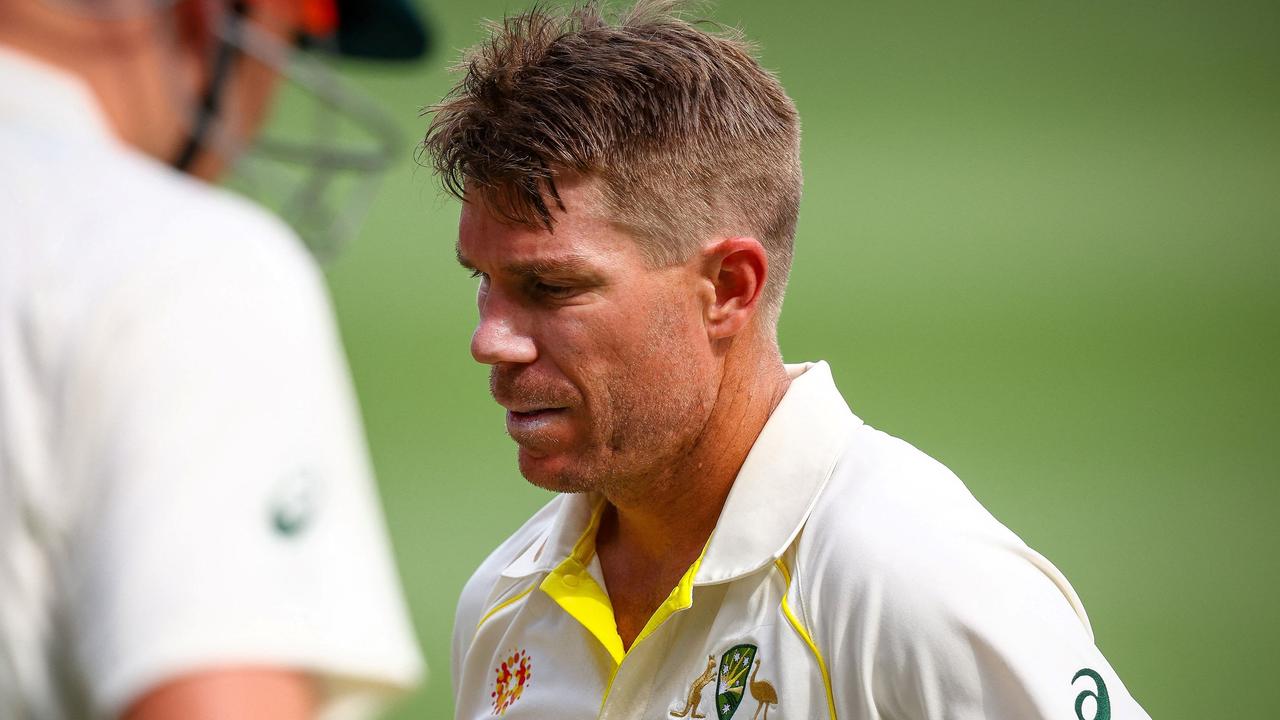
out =
<path fill-rule="evenodd" d="M 0 717 L 367 717 L 420 682 L 323 277 L 205 182 L 301 31 L 407 12 L 343 8 L 0 0 Z"/>

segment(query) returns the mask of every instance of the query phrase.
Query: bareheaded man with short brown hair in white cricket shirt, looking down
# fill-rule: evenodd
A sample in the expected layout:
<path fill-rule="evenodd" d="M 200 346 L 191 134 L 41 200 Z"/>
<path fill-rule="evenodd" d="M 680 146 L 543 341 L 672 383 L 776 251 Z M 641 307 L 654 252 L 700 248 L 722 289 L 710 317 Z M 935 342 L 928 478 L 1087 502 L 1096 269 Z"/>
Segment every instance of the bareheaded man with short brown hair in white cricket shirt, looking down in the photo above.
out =
<path fill-rule="evenodd" d="M 433 109 L 471 352 L 563 493 L 462 592 L 457 717 L 1144 719 L 1048 561 L 782 364 L 799 118 L 669 6 L 508 18 Z"/>

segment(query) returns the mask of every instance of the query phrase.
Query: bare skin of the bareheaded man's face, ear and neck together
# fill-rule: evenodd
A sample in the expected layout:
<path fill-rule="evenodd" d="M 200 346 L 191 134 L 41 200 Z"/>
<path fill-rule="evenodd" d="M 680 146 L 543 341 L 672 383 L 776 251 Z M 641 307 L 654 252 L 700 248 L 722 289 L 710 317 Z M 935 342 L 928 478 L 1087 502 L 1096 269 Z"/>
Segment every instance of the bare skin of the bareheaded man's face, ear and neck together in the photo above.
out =
<path fill-rule="evenodd" d="M 463 205 L 458 261 L 480 279 L 472 356 L 520 470 L 608 500 L 596 536 L 623 647 L 701 552 L 788 380 L 763 325 L 764 247 L 718 237 L 654 268 L 604 219 L 593 181 L 557 181 L 554 229 Z"/>

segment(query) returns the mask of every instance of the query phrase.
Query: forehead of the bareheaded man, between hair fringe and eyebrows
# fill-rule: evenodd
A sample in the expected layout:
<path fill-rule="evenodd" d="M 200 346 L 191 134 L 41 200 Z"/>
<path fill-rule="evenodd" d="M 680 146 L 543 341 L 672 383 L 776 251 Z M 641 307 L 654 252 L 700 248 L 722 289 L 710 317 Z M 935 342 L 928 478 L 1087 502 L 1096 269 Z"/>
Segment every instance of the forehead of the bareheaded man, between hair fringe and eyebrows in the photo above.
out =
<path fill-rule="evenodd" d="M 559 196 L 564 209 L 552 209 L 554 224 L 550 231 L 511 223 L 479 200 L 463 202 L 458 219 L 458 260 L 486 269 L 559 259 L 577 263 L 640 259 L 635 238 L 605 218 L 590 187 L 566 183 Z"/>

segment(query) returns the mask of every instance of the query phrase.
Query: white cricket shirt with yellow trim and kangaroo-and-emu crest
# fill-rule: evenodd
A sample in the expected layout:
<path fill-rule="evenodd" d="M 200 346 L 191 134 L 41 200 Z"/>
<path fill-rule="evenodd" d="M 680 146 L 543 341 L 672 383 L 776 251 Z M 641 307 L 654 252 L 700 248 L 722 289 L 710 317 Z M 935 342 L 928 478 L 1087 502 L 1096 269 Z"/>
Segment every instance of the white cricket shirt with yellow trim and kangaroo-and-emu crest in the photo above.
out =
<path fill-rule="evenodd" d="M 1066 579 L 824 363 L 794 382 L 705 551 L 628 652 L 559 496 L 467 583 L 457 717 L 1146 720 Z M 763 712 L 762 712 L 763 711 Z"/>

